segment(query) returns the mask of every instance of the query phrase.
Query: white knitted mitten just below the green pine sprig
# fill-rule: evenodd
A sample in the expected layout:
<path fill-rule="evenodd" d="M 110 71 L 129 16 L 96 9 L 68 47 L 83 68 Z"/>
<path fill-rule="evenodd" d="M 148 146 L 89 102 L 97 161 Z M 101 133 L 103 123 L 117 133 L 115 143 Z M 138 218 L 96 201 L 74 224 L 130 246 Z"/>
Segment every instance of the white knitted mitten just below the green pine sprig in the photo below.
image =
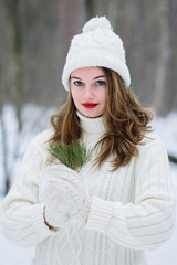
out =
<path fill-rule="evenodd" d="M 44 179 L 45 221 L 53 227 L 61 227 L 82 209 L 84 186 L 80 174 L 64 165 L 48 167 Z"/>

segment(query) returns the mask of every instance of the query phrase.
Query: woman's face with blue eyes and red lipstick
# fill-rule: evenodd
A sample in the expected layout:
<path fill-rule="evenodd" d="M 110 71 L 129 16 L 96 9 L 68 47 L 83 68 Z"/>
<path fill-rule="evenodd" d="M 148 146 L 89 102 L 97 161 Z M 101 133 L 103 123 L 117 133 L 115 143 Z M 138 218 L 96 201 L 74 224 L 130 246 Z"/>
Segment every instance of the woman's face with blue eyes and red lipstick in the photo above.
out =
<path fill-rule="evenodd" d="M 71 94 L 76 109 L 86 117 L 102 116 L 106 107 L 107 78 L 101 67 L 83 67 L 71 73 Z"/>

